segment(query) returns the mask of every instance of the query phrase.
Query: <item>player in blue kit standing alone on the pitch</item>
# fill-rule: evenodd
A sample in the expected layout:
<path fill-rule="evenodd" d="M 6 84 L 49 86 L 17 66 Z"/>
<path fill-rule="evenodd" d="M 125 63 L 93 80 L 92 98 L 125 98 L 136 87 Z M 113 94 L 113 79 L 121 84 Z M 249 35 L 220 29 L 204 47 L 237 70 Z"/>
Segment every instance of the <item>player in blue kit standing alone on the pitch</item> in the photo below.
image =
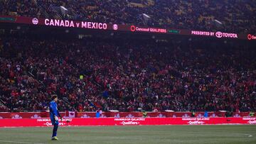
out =
<path fill-rule="evenodd" d="M 50 101 L 50 121 L 53 124 L 53 135 L 52 135 L 52 140 L 58 140 L 57 138 L 57 131 L 58 131 L 58 116 L 60 117 L 62 121 L 62 117 L 60 116 L 60 113 L 58 112 L 57 104 L 56 102 L 58 101 L 58 96 L 53 95 L 51 97 Z"/>

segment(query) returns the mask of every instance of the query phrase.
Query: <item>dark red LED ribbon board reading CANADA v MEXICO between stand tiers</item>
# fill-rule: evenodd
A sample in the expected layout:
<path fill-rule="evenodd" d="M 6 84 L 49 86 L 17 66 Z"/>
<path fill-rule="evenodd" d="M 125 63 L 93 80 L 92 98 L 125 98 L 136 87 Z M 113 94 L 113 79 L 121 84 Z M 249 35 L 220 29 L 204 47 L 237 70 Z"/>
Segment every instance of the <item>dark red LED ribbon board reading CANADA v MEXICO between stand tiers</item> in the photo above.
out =
<path fill-rule="evenodd" d="M 129 26 L 117 23 L 100 23 L 92 21 L 72 21 L 51 18 L 30 18 L 24 16 L 0 16 L 0 23 L 22 23 L 33 26 L 51 26 L 58 28 L 82 28 L 101 31 L 127 31 L 130 33 L 160 33 L 171 35 L 195 35 L 210 38 L 230 38 L 241 40 L 256 40 L 256 35 L 250 33 L 227 33 L 223 31 L 194 31 L 177 28 L 155 28 L 146 26 Z"/>

